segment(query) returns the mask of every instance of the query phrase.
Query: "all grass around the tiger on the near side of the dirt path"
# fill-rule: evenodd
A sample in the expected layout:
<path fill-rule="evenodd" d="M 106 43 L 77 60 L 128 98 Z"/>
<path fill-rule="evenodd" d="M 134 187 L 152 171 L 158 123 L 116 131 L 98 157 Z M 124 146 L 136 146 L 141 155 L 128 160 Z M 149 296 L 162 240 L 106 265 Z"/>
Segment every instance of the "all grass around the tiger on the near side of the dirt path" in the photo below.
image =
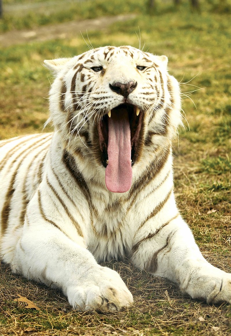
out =
<path fill-rule="evenodd" d="M 198 15 L 186 9 L 182 6 L 160 15 L 159 8 L 155 16 L 142 10 L 135 19 L 113 24 L 106 34 L 94 31 L 88 36 L 95 47 L 138 46 L 135 31 L 140 27 L 144 49 L 168 56 L 169 72 L 182 82 L 183 92 L 203 88 L 190 96 L 196 108 L 190 99 L 183 99 L 190 131 L 185 121 L 179 146 L 178 141 L 174 144 L 175 191 L 206 259 L 230 272 L 230 17 L 208 11 Z M 86 49 L 77 35 L 71 40 L 1 50 L 0 138 L 41 131 L 52 81 L 41 65 L 43 59 Z M 1 265 L 0 335 L 230 335 L 231 306 L 192 300 L 175 284 L 154 278 L 129 262 L 107 265 L 118 270 L 128 284 L 135 300 L 130 310 L 105 315 L 73 312 L 62 293 L 12 275 Z M 17 293 L 41 310 L 14 302 Z"/>

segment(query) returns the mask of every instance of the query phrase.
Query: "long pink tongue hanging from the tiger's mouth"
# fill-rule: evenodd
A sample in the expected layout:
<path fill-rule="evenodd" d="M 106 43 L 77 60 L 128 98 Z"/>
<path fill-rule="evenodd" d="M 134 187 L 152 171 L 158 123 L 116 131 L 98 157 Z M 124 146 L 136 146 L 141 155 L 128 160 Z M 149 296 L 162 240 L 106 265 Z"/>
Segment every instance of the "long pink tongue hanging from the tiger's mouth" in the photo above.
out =
<path fill-rule="evenodd" d="M 131 187 L 131 135 L 126 110 L 113 111 L 108 118 L 108 165 L 105 182 L 109 191 L 125 193 Z"/>

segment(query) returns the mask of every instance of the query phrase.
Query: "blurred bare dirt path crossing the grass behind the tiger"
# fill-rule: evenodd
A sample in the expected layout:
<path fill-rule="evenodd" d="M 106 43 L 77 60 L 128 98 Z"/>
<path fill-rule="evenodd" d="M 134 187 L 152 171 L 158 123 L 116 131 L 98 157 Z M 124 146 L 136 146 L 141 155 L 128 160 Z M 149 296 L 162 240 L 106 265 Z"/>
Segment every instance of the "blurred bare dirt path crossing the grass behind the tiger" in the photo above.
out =
<path fill-rule="evenodd" d="M 41 42 L 51 39 L 69 39 L 76 37 L 80 31 L 105 30 L 108 26 L 118 21 L 134 18 L 134 14 L 117 15 L 113 17 L 98 17 L 82 21 L 70 21 L 61 24 L 40 26 L 33 30 L 10 31 L 0 34 L 0 46 L 9 47 L 27 42 Z"/>

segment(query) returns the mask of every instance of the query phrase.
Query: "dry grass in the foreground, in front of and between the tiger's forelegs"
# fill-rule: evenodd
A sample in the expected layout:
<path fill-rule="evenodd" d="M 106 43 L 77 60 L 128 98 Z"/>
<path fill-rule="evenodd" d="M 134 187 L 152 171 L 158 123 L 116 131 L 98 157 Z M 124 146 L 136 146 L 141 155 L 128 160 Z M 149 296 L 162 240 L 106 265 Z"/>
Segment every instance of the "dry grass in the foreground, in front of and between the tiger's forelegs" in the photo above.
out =
<path fill-rule="evenodd" d="M 220 259 L 218 256 L 218 262 Z M 131 309 L 109 314 L 74 312 L 62 293 L 12 275 L 2 266 L 0 310 L 7 324 L 2 324 L 1 335 L 230 334 L 230 306 L 208 306 L 191 300 L 175 284 L 134 269 L 129 263 L 105 265 L 118 270 L 128 284 L 135 300 Z M 26 309 L 24 303 L 14 302 L 17 293 L 34 301 L 41 310 Z"/>

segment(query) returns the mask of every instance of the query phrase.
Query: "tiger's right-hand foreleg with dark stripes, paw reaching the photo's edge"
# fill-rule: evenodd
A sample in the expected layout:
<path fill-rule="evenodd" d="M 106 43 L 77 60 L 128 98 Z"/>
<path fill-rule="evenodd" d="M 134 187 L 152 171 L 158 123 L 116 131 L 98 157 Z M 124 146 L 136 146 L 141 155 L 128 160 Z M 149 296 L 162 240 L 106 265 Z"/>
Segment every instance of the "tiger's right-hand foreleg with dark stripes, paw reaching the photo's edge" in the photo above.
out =
<path fill-rule="evenodd" d="M 208 263 L 179 216 L 136 244 L 132 261 L 178 283 L 181 291 L 207 303 L 231 303 L 231 274 Z"/>

